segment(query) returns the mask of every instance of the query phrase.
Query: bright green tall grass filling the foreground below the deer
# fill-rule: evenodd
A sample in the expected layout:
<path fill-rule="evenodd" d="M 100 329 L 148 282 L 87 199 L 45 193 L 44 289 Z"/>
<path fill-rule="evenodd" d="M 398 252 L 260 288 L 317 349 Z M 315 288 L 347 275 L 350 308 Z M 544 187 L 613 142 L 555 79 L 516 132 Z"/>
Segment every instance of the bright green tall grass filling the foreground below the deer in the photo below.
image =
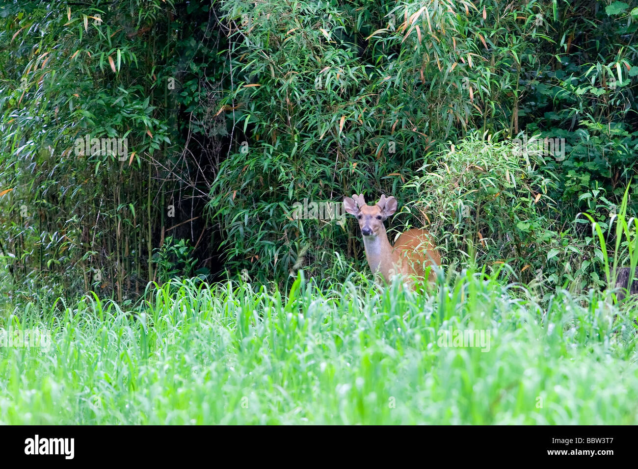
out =
<path fill-rule="evenodd" d="M 52 342 L 0 347 L 0 423 L 637 423 L 635 311 L 593 290 L 540 304 L 505 273 L 433 295 L 174 281 L 135 313 L 21 311 L 3 327 Z M 489 350 L 445 346 L 450 327 L 489 331 Z"/>

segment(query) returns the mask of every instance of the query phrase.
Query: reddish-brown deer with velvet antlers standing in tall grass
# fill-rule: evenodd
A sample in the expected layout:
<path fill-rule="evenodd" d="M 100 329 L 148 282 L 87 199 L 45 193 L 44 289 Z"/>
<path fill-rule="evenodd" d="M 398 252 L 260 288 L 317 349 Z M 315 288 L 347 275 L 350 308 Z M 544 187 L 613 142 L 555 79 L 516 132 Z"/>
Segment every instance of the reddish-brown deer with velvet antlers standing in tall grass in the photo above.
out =
<path fill-rule="evenodd" d="M 441 257 L 422 228 L 412 228 L 399 235 L 394 246 L 388 241 L 384 222 L 397 210 L 396 198 L 383 194 L 375 205 L 367 205 L 362 194 L 343 198 L 346 212 L 355 216 L 363 235 L 367 264 L 375 277 L 390 283 L 392 276 L 401 276 L 404 284 L 415 289 L 415 279 L 423 279 L 428 266 L 441 264 Z M 436 278 L 431 271 L 429 281 Z"/>

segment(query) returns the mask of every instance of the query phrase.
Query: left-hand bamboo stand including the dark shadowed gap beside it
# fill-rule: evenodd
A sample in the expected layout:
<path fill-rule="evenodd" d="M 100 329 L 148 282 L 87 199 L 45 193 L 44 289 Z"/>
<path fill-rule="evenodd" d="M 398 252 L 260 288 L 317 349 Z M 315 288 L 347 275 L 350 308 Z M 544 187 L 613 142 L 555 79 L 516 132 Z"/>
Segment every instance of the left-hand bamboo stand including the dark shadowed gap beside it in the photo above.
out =
<path fill-rule="evenodd" d="M 13 301 L 40 287 L 43 301 L 122 300 L 174 267 L 211 270 L 203 210 L 221 144 L 215 119 L 192 124 L 218 86 L 200 70 L 219 47 L 209 22 L 208 6 L 172 1 L 4 2 L 0 223 Z M 175 234 L 181 248 L 165 242 Z M 197 244 L 200 272 L 184 268 Z"/>

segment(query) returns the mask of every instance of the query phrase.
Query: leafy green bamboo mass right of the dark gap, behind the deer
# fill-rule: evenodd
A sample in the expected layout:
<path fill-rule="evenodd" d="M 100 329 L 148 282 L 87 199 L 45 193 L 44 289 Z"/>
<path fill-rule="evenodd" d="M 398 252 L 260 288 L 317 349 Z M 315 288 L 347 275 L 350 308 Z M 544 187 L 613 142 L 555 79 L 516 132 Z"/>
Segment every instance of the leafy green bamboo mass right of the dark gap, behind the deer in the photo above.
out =
<path fill-rule="evenodd" d="M 602 285 L 591 261 L 579 276 L 566 277 L 563 267 L 591 246 L 591 232 L 573 225 L 577 214 L 608 219 L 638 170 L 637 9 L 242 0 L 221 8 L 236 153 L 221 165 L 211 206 L 229 269 L 265 280 L 304 265 L 325 277 L 333 252 L 362 258 L 354 223 L 344 230 L 339 220 L 298 220 L 290 211 L 304 199 L 363 192 L 415 202 L 422 223 L 445 228 L 438 235 L 447 254 L 450 238 L 463 237 L 455 248 L 500 239 L 482 260 L 517 260 L 527 281 L 541 269 L 551 285 Z M 462 158 L 452 143 L 440 150 L 445 142 L 461 147 Z M 436 176 L 423 176 L 423 167 Z M 474 193 L 487 179 L 495 184 Z M 450 182 L 482 206 L 449 200 Z M 443 192 L 447 200 L 433 197 Z M 440 223 L 459 204 L 475 220 L 468 231 Z M 565 255 L 545 258 L 551 248 Z M 449 261 L 473 255 L 454 252 Z M 544 274 L 550 260 L 560 265 Z"/>

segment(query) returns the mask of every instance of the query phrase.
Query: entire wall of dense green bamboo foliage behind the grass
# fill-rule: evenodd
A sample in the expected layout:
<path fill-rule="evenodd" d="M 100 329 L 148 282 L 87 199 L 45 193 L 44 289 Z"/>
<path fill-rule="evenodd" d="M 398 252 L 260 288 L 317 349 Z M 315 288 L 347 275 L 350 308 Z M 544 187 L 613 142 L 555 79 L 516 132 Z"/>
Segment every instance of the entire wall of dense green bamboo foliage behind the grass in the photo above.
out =
<path fill-rule="evenodd" d="M 448 263 L 601 287 L 574 221 L 608 223 L 638 170 L 634 7 L 5 1 L 4 288 L 341 280 L 362 265 L 355 192 L 395 195 L 394 227 L 432 225 Z"/>

